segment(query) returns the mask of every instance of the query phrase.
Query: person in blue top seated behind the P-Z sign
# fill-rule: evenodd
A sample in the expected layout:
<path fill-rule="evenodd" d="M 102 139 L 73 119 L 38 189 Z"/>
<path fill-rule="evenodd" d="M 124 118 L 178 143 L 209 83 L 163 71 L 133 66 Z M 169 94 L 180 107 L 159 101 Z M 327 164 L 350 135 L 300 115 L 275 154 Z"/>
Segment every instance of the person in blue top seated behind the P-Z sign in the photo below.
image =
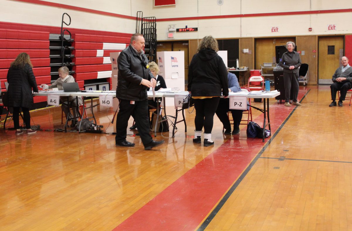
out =
<path fill-rule="evenodd" d="M 241 91 L 240 85 L 238 83 L 237 77 L 235 74 L 228 72 L 228 92 L 237 92 Z M 231 135 L 231 124 L 228 120 L 227 112 L 230 111 L 230 100 L 229 98 L 220 98 L 220 102 L 218 108 L 216 109 L 216 115 L 219 117 L 222 125 L 225 128 L 225 135 Z M 233 118 L 233 131 L 232 135 L 237 135 L 240 133 L 240 123 L 242 120 L 243 110 L 231 110 L 232 118 Z"/>

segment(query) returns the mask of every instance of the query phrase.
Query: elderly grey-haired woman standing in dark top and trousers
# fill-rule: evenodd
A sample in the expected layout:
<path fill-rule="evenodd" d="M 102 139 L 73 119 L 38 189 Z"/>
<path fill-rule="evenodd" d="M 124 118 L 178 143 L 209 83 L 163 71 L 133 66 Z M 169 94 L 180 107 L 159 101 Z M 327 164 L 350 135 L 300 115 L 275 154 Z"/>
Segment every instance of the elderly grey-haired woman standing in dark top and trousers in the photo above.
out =
<path fill-rule="evenodd" d="M 299 102 L 297 102 L 298 96 L 298 71 L 301 66 L 301 58 L 298 52 L 294 51 L 296 45 L 294 42 L 287 42 L 286 48 L 287 52 L 282 54 L 282 58 L 280 61 L 280 66 L 284 69 L 284 86 L 285 86 L 285 106 L 291 107 L 290 104 L 290 96 L 293 97 L 293 105 L 301 106 Z"/>

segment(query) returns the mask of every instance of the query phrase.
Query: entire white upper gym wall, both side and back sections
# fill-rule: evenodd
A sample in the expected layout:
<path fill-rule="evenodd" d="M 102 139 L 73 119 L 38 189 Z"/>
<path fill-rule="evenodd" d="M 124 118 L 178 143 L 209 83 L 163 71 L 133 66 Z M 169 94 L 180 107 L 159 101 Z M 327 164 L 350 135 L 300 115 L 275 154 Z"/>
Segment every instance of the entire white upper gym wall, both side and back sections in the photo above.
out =
<path fill-rule="evenodd" d="M 333 3 L 330 0 L 224 0 L 222 6 L 218 6 L 216 0 L 176 0 L 176 6 L 169 7 L 153 7 L 153 0 L 48 0 L 46 2 L 132 17 L 136 16 L 137 11 L 143 11 L 144 17 L 155 16 L 157 19 L 352 8 L 352 1 L 345 0 L 335 0 Z M 65 12 L 72 18 L 70 25 L 72 28 L 134 33 L 136 27 L 135 19 L 14 0 L 0 0 L 0 21 L 4 22 L 59 27 L 62 14 Z M 158 40 L 168 40 L 167 28 L 171 24 L 175 24 L 176 28 L 198 27 L 197 32 L 175 33 L 174 39 L 197 39 L 206 35 L 212 35 L 215 38 L 238 38 L 347 34 L 352 33 L 352 13 L 158 21 Z M 329 24 L 335 24 L 336 30 L 328 31 Z M 279 31 L 271 32 L 271 27 L 275 26 Z M 313 28 L 312 32 L 308 31 L 309 27 Z"/>

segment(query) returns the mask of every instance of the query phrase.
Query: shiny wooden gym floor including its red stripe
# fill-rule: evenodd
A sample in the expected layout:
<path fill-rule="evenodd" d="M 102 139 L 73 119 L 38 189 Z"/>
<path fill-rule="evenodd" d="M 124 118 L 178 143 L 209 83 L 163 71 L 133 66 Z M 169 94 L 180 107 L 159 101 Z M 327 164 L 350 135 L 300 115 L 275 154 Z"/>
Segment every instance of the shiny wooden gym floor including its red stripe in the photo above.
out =
<path fill-rule="evenodd" d="M 61 108 L 32 111 L 42 131 L 0 129 L 0 230 L 352 230 L 351 107 L 328 107 L 329 86 L 301 86 L 298 98 L 301 107 L 270 101 L 265 143 L 245 125 L 223 135 L 215 116 L 215 145 L 193 144 L 186 112 L 188 132 L 178 123 L 150 151 L 129 129 L 133 148 L 110 134 L 45 131 L 61 127 Z M 113 111 L 95 113 L 112 133 Z"/>

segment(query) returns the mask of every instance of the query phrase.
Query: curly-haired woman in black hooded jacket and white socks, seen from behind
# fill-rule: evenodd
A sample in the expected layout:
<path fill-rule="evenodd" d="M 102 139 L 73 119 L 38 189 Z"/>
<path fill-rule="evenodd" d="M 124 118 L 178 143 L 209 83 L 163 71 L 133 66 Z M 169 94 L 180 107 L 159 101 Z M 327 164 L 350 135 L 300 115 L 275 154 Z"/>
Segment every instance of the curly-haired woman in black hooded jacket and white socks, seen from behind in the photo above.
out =
<path fill-rule="evenodd" d="M 204 127 L 204 146 L 213 145 L 213 117 L 220 101 L 221 92 L 228 96 L 227 68 L 216 53 L 218 42 L 206 36 L 200 42 L 197 53 L 189 64 L 188 91 L 194 98 L 196 110 L 194 143 L 201 143 Z"/>

